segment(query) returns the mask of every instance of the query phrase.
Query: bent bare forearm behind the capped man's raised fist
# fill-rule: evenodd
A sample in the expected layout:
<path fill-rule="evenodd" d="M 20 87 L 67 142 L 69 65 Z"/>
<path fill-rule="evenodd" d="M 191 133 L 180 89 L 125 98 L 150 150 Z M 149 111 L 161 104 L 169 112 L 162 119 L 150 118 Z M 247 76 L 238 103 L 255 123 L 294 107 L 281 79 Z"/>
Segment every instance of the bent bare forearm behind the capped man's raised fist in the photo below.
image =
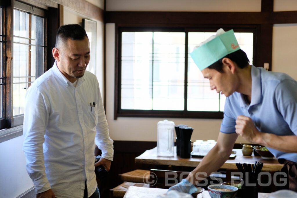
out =
<path fill-rule="evenodd" d="M 276 149 L 278 151 L 297 153 L 297 136 L 278 136 L 275 134 L 261 133 L 257 142 L 260 145 Z"/>

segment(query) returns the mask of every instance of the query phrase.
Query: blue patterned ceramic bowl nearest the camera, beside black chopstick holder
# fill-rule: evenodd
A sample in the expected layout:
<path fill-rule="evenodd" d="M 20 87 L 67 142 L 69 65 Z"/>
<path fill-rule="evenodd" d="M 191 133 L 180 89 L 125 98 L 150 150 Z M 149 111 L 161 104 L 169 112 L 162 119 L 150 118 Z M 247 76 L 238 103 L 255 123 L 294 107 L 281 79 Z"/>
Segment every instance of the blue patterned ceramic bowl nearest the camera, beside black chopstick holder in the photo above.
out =
<path fill-rule="evenodd" d="M 238 188 L 229 185 L 210 185 L 207 186 L 211 198 L 234 198 Z"/>

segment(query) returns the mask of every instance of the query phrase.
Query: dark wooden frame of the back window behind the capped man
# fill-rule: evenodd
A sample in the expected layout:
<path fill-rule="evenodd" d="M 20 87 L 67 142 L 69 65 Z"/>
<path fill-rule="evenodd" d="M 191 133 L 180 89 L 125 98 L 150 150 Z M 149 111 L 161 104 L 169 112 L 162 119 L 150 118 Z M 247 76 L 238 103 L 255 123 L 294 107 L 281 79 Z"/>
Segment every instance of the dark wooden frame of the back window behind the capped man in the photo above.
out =
<path fill-rule="evenodd" d="M 118 47 L 117 47 L 117 57 L 116 60 L 116 71 L 117 76 L 117 84 L 115 84 L 115 90 L 117 93 L 117 97 L 115 98 L 115 115 L 116 117 L 160 117 L 160 118 L 205 118 L 205 119 L 222 119 L 223 112 L 221 111 L 188 111 L 187 110 L 187 75 L 188 75 L 188 33 L 189 32 L 215 32 L 222 26 L 206 26 L 206 27 L 124 27 L 118 26 Z M 253 60 L 256 60 L 256 32 L 258 30 L 258 26 L 253 25 L 233 25 L 233 26 L 224 26 L 226 31 L 229 29 L 234 29 L 235 32 L 252 32 L 254 34 L 253 39 Z M 163 32 L 184 32 L 186 34 L 185 37 L 185 72 L 184 72 L 184 110 L 124 110 L 121 109 L 121 33 L 124 31 L 163 31 Z M 116 119 L 116 118 L 115 118 Z"/>

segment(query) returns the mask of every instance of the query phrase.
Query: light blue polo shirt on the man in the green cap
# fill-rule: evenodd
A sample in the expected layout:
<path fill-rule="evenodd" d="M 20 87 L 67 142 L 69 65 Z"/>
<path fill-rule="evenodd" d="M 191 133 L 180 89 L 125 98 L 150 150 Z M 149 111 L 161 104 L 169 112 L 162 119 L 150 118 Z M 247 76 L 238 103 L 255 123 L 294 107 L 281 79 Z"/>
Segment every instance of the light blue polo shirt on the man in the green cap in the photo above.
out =
<path fill-rule="evenodd" d="M 297 82 L 289 75 L 251 67 L 252 99 L 234 92 L 226 98 L 220 132 L 235 133 L 238 115 L 252 118 L 260 132 L 279 136 L 297 135 Z M 268 150 L 277 158 L 297 162 L 297 153 Z"/>

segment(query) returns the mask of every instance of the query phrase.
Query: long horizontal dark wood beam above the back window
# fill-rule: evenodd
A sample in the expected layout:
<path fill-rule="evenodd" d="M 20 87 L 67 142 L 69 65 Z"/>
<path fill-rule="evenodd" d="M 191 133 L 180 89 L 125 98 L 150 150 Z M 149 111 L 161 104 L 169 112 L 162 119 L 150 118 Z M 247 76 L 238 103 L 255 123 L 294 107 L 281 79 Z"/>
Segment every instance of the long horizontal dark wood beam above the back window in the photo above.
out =
<path fill-rule="evenodd" d="M 105 12 L 105 23 L 117 24 L 265 24 L 268 12 Z"/>

